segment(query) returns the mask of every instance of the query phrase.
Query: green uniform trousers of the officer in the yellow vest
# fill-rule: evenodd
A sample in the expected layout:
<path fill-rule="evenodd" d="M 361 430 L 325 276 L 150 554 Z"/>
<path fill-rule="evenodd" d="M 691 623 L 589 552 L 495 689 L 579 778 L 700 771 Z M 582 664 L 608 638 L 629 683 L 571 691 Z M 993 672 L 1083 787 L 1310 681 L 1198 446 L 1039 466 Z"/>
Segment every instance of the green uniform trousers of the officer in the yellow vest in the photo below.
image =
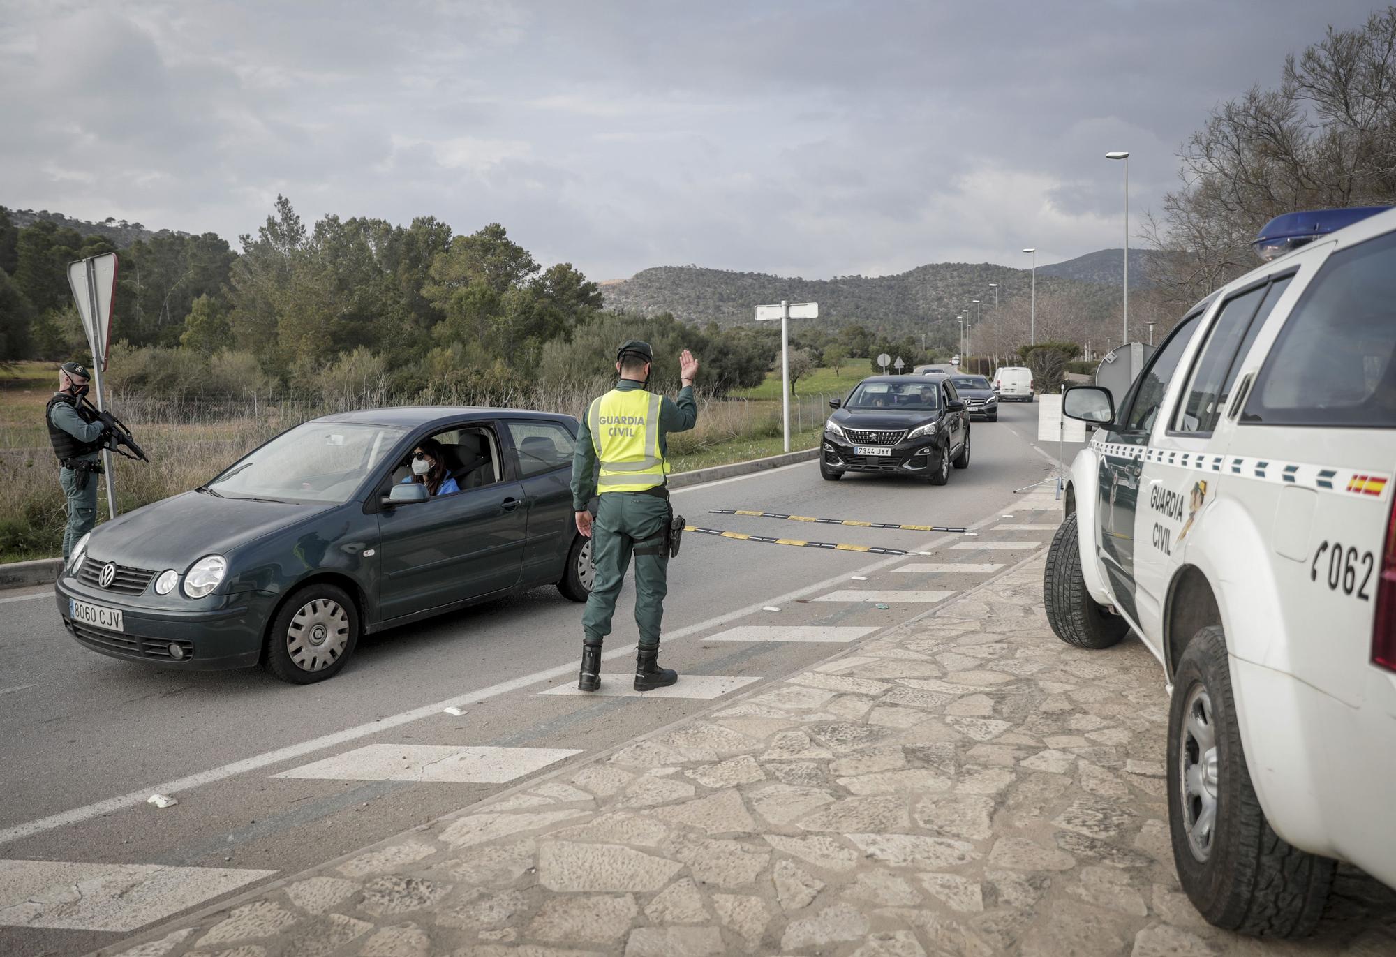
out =
<path fill-rule="evenodd" d="M 606 492 L 592 523 L 596 576 L 582 612 L 582 642 L 600 645 L 610 635 L 616 597 L 635 557 L 635 625 L 639 646 L 659 645 L 669 594 L 669 501 L 641 492 Z"/>

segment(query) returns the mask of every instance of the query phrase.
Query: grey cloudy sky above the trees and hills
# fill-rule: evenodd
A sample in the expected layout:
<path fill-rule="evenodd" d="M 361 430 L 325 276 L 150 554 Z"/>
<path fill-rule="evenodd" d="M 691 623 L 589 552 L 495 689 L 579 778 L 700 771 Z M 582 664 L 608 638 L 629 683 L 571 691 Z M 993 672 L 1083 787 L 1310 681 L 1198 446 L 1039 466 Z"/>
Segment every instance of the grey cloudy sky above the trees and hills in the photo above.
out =
<path fill-rule="evenodd" d="M 1371 0 L 0 0 L 0 205 L 501 222 L 595 279 L 1118 247 L 1216 103 Z M 1138 218 L 1135 219 L 1138 229 Z"/>

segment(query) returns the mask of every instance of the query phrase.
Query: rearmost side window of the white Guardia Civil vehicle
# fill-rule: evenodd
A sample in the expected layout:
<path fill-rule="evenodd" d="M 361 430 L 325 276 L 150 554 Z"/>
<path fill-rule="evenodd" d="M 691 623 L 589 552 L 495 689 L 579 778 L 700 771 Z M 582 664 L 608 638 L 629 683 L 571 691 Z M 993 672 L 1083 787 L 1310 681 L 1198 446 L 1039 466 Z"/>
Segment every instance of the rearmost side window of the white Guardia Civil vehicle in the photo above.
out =
<path fill-rule="evenodd" d="M 1241 423 L 1396 428 L 1396 233 L 1328 258 L 1284 321 Z"/>

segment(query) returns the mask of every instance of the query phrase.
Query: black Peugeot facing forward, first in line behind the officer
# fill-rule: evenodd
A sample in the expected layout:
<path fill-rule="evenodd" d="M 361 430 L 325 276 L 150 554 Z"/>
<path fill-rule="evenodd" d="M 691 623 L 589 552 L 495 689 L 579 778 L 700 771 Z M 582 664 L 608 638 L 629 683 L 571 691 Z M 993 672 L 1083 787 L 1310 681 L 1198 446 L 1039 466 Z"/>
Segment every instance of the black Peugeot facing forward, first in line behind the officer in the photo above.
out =
<path fill-rule="evenodd" d="M 944 485 L 951 466 L 969 467 L 969 413 L 945 375 L 874 375 L 847 400 L 829 403 L 819 474 L 916 476 Z"/>

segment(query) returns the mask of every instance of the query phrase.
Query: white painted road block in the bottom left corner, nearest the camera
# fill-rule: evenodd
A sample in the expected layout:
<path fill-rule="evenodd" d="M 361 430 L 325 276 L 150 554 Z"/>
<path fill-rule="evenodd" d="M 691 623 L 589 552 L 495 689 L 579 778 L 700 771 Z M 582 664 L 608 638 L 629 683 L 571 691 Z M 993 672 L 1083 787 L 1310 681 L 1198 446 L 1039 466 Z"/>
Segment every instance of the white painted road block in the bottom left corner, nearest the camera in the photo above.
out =
<path fill-rule="evenodd" d="M 135 930 L 275 871 L 0 861 L 0 925 Z"/>

